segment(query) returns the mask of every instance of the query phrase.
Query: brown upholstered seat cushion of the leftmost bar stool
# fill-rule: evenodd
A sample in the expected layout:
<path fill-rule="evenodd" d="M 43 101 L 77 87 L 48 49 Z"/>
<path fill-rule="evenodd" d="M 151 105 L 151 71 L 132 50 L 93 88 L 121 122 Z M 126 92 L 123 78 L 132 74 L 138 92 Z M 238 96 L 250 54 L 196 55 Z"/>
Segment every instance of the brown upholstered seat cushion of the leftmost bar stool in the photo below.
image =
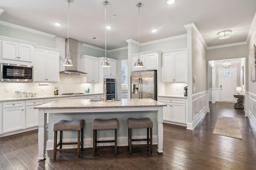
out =
<path fill-rule="evenodd" d="M 60 120 L 53 126 L 53 131 L 80 131 L 84 127 L 84 120 Z"/>

